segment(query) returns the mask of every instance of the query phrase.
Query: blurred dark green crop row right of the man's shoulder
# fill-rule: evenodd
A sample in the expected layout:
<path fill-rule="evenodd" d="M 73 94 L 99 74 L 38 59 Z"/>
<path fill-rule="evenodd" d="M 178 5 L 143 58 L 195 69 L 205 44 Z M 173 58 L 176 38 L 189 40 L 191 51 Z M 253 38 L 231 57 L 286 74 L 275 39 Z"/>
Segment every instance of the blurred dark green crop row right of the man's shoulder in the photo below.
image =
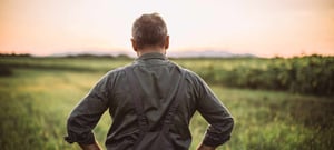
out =
<path fill-rule="evenodd" d="M 206 81 L 226 87 L 334 96 L 334 57 L 213 60 L 205 67 L 187 67 Z"/>

